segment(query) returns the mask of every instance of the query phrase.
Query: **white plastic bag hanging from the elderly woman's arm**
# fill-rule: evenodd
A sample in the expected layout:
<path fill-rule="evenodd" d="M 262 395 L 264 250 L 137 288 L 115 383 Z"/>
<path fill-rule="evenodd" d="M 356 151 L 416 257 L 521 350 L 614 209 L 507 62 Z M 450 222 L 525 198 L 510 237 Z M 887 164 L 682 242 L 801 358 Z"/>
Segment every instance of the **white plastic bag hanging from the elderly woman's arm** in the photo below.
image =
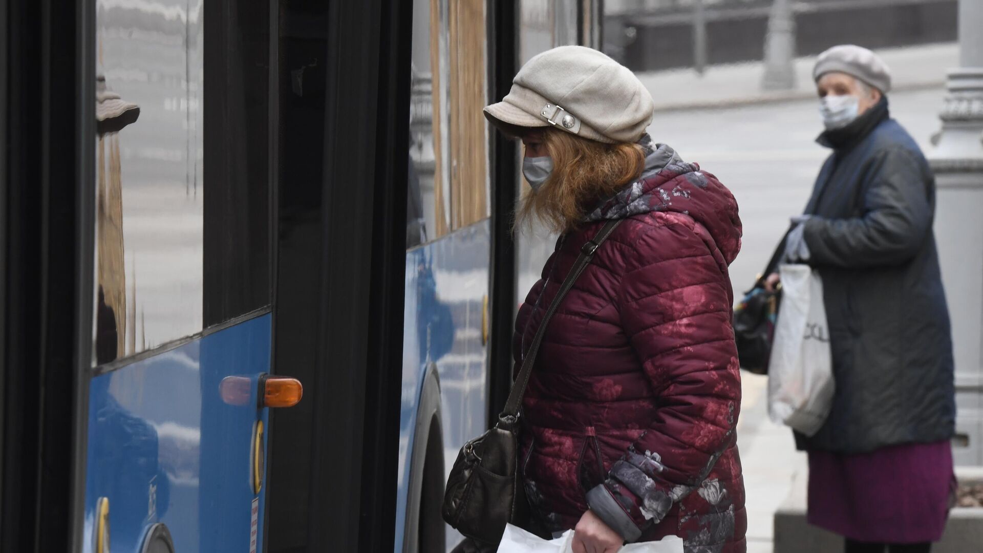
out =
<path fill-rule="evenodd" d="M 836 383 L 823 280 L 807 265 L 782 265 L 781 308 L 768 368 L 768 413 L 806 436 L 819 432 Z"/>

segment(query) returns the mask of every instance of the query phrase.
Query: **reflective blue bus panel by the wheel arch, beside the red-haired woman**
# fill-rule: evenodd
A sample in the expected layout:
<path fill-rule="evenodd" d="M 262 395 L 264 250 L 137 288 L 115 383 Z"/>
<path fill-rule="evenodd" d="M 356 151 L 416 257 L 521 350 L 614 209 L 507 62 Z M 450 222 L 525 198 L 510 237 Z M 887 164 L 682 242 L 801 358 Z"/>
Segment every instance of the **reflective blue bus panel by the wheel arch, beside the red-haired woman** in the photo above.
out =
<path fill-rule="evenodd" d="M 487 299 L 491 223 L 454 231 L 406 253 L 402 403 L 395 551 L 403 550 L 420 396 L 429 367 L 439 380 L 444 480 L 467 440 L 486 429 Z M 484 323 L 484 324 L 483 324 Z M 431 439 L 434 439 L 432 436 Z M 447 548 L 461 539 L 447 526 Z"/>

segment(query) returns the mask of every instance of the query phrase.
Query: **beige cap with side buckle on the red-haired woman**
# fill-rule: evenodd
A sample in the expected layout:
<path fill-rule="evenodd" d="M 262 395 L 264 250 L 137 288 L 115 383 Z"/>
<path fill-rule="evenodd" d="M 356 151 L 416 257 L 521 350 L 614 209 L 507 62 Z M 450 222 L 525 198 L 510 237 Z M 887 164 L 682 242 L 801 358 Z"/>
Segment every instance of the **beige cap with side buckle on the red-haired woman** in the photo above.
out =
<path fill-rule="evenodd" d="M 585 46 L 559 46 L 526 62 L 512 90 L 485 108 L 500 131 L 563 129 L 606 142 L 636 142 L 652 123 L 652 94 L 628 68 Z"/>

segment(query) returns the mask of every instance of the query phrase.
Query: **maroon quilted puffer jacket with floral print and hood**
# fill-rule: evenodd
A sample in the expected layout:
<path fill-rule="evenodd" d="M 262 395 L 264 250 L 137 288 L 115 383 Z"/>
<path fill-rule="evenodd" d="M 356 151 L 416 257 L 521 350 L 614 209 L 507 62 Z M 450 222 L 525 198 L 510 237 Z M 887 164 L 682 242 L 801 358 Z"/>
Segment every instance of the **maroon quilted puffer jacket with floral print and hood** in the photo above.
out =
<path fill-rule="evenodd" d="M 516 368 L 581 246 L 625 218 L 563 300 L 523 400 L 520 469 L 549 531 L 590 508 L 627 541 L 675 534 L 687 553 L 745 551 L 735 447 L 740 375 L 727 266 L 730 192 L 670 148 L 557 242 L 516 320 Z"/>

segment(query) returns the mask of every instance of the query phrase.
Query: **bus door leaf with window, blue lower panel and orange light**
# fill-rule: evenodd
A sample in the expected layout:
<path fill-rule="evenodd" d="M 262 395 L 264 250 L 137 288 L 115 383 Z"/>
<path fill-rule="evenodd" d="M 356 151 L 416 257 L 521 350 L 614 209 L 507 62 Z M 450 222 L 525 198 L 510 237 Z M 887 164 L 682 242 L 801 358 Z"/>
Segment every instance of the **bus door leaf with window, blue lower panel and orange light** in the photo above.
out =
<path fill-rule="evenodd" d="M 261 551 L 268 407 L 302 395 L 269 375 L 270 5 L 95 10 L 83 549 Z"/>

